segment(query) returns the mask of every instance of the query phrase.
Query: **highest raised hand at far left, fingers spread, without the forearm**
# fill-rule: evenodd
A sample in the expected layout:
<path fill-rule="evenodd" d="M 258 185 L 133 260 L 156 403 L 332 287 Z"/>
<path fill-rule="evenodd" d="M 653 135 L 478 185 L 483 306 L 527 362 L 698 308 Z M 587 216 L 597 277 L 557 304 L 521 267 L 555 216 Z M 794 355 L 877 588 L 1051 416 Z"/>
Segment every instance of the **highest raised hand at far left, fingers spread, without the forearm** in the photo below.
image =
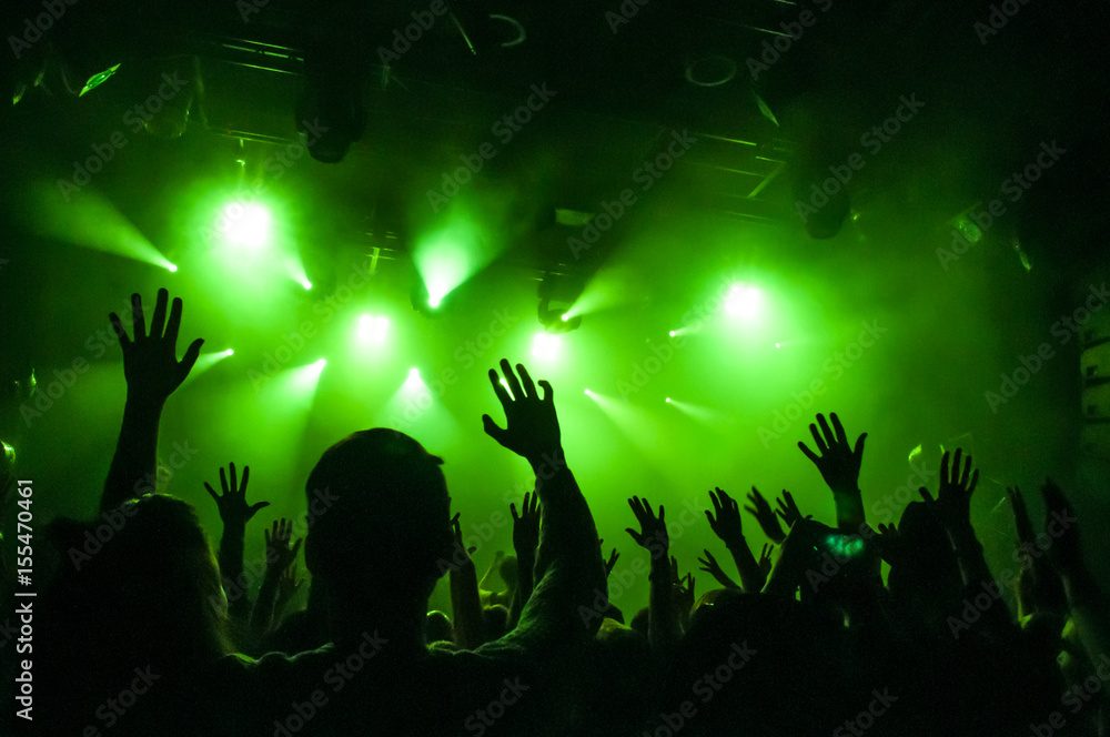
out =
<path fill-rule="evenodd" d="M 109 314 L 112 329 L 120 340 L 123 350 L 123 375 L 128 380 L 128 397 L 162 406 L 185 376 L 192 371 L 196 357 L 201 353 L 203 339 L 196 339 L 188 349 L 181 361 L 178 361 L 178 331 L 181 327 L 181 300 L 174 297 L 170 310 L 170 319 L 165 319 L 165 307 L 170 293 L 164 289 L 158 291 L 154 314 L 147 332 L 143 319 L 142 297 L 131 295 L 131 329 L 133 336 L 128 337 L 123 322 L 114 312 Z M 163 331 L 164 327 L 164 331 Z"/>

